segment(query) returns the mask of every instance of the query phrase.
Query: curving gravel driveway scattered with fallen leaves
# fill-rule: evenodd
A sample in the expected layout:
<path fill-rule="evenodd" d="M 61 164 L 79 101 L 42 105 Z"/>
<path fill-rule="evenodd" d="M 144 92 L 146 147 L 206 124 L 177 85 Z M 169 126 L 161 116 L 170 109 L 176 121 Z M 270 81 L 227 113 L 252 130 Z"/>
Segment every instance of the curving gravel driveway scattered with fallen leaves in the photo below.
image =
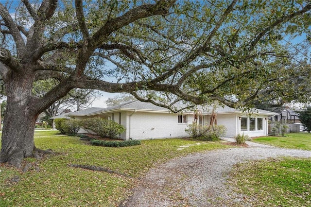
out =
<path fill-rule="evenodd" d="M 311 157 L 311 151 L 267 145 L 230 148 L 175 158 L 152 169 L 122 207 L 250 206 L 225 185 L 233 165 L 277 156 Z"/>

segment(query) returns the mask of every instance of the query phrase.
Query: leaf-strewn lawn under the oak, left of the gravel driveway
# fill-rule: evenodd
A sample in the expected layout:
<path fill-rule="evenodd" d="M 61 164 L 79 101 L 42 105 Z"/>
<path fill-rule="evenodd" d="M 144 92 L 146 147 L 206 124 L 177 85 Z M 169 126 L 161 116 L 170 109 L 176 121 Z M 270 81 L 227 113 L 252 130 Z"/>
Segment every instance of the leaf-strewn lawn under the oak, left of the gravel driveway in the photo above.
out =
<path fill-rule="evenodd" d="M 26 173 L 0 165 L 0 206 L 63 207 L 63 206 L 118 206 L 138 178 L 159 163 L 193 152 L 227 148 L 221 143 L 191 146 L 177 151 L 181 145 L 197 141 L 186 139 L 144 140 L 141 145 L 124 148 L 91 146 L 77 137 L 35 138 L 41 149 L 51 148 L 61 154 L 47 155 L 24 163 L 33 167 Z M 68 164 L 95 165 L 129 176 L 94 172 L 68 167 Z M 20 181 L 9 180 L 18 175 Z"/>

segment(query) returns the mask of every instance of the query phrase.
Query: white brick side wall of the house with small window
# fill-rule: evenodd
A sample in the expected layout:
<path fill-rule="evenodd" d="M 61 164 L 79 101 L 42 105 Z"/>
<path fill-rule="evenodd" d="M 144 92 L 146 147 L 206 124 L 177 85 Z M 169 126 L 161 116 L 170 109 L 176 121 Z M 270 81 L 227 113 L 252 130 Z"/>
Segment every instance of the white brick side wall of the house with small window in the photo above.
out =
<path fill-rule="evenodd" d="M 177 114 L 132 112 L 127 116 L 127 138 L 177 138 L 189 137 L 185 129 L 187 123 L 178 123 Z M 187 114 L 187 122 L 192 123 L 193 115 Z M 130 130 L 129 130 L 130 129 Z"/>

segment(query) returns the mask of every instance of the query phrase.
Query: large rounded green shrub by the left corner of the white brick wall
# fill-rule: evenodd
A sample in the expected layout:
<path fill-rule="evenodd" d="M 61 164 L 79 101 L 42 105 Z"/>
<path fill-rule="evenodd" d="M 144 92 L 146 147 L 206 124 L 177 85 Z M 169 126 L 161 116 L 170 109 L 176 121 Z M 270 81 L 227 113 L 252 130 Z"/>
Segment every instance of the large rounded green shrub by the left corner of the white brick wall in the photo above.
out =
<path fill-rule="evenodd" d="M 83 120 L 83 128 L 92 130 L 101 137 L 113 139 L 118 138 L 118 135 L 125 131 L 125 128 L 121 124 L 99 117 Z"/>

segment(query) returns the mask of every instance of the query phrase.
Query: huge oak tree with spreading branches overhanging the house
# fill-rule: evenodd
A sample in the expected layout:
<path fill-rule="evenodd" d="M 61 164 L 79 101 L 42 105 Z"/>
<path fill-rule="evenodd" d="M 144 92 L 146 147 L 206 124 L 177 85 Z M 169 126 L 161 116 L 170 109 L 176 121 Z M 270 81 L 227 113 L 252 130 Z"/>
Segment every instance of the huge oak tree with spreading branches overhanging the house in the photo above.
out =
<path fill-rule="evenodd" d="M 284 41 L 310 31 L 310 10 L 289 0 L 0 3 L 0 162 L 19 167 L 33 155 L 38 114 L 73 88 L 127 92 L 172 110 L 179 100 L 239 107 L 279 90 L 310 71 L 287 67 L 294 56 Z M 34 83 L 51 78 L 57 86 L 34 97 Z"/>

